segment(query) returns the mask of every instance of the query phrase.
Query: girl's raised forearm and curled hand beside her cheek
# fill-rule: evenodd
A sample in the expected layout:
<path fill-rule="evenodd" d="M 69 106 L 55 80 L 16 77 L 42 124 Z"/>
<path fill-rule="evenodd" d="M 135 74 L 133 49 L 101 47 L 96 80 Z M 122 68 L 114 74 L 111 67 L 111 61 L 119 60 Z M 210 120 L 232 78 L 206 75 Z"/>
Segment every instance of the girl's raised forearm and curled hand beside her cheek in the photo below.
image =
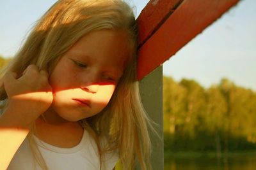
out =
<path fill-rule="evenodd" d="M 0 117 L 0 170 L 6 169 L 33 122 L 52 103 L 46 71 L 30 65 L 20 78 L 9 72 L 4 77 L 8 106 Z"/>

